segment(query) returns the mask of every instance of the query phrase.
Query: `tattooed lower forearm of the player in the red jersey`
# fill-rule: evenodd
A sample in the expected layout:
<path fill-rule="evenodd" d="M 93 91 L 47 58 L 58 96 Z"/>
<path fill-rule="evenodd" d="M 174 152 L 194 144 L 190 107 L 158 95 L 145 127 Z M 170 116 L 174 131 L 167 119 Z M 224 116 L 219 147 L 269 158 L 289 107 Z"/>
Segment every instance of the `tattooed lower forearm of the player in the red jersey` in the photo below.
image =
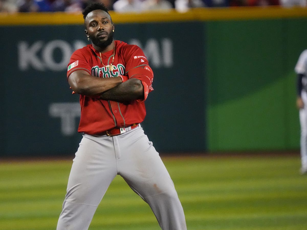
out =
<path fill-rule="evenodd" d="M 130 102 L 144 98 L 144 88 L 138 79 L 129 79 L 100 95 L 100 99 L 116 102 Z"/>

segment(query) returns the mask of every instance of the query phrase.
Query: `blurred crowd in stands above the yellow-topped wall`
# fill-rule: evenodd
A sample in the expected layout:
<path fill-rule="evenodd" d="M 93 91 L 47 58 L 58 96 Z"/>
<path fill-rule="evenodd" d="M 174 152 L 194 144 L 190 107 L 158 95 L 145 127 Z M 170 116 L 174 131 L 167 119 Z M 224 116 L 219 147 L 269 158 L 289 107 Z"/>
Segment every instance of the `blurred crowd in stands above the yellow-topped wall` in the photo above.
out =
<path fill-rule="evenodd" d="M 109 10 L 124 13 L 228 6 L 306 7 L 307 0 L 0 0 L 0 12 L 80 12 L 91 2 L 102 2 Z"/>

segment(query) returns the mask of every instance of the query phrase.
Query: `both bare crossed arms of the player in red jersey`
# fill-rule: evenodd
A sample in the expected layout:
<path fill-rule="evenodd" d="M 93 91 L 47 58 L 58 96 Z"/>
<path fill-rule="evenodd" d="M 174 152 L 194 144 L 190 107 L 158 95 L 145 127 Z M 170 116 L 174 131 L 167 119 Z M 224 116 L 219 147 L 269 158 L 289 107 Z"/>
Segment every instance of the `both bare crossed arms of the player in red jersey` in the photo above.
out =
<path fill-rule="evenodd" d="M 139 79 L 97 78 L 84 70 L 76 70 L 68 77 L 68 83 L 77 94 L 99 96 L 103 100 L 130 102 L 144 98 L 144 87 Z"/>

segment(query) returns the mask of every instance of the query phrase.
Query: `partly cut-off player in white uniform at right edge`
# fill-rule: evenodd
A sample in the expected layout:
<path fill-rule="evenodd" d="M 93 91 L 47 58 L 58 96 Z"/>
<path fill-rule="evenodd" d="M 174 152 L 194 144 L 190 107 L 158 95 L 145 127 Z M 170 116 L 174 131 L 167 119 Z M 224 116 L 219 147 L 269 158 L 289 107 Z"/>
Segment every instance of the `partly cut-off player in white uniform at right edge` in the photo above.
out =
<path fill-rule="evenodd" d="M 307 173 L 307 49 L 298 58 L 295 66 L 297 74 L 297 100 L 301 125 L 301 174 Z"/>

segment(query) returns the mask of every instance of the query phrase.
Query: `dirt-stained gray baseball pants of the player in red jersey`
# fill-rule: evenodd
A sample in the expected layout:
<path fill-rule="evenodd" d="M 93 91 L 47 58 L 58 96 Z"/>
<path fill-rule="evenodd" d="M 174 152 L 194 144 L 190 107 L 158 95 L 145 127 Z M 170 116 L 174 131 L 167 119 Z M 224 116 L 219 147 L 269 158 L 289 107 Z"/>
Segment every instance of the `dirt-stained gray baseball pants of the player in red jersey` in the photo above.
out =
<path fill-rule="evenodd" d="M 173 181 L 140 126 L 113 137 L 83 135 L 56 229 L 88 229 L 117 174 L 150 205 L 161 229 L 187 229 Z"/>

